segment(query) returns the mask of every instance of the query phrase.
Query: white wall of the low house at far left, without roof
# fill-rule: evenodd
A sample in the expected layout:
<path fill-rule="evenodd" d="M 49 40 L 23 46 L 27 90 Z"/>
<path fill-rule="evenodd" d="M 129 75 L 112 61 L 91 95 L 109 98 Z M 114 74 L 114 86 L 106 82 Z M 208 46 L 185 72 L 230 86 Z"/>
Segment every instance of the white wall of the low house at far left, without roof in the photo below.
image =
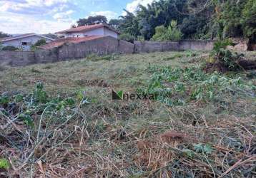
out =
<path fill-rule="evenodd" d="M 1 43 L 3 46 L 15 46 L 16 48 L 22 48 L 24 51 L 29 51 L 31 45 L 23 46 L 22 42 L 31 43 L 33 45 L 34 43 L 36 43 L 37 41 L 39 41 L 41 39 L 45 39 L 46 43 L 51 42 L 51 40 L 49 40 L 47 38 L 42 38 L 40 36 L 29 36 L 29 37 L 25 37 L 25 38 L 14 39 L 11 41 L 3 41 Z"/>

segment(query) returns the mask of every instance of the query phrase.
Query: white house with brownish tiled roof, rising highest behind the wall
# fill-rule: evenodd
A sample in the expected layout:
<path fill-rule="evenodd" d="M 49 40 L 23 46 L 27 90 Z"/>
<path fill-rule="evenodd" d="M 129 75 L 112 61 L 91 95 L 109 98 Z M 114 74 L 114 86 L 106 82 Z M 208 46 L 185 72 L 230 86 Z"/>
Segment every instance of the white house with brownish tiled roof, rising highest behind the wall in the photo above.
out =
<path fill-rule="evenodd" d="M 70 28 L 68 30 L 56 32 L 56 34 L 64 36 L 64 38 L 79 38 L 87 36 L 112 36 L 114 38 L 119 38 L 119 32 L 107 24 L 78 26 L 77 28 Z"/>

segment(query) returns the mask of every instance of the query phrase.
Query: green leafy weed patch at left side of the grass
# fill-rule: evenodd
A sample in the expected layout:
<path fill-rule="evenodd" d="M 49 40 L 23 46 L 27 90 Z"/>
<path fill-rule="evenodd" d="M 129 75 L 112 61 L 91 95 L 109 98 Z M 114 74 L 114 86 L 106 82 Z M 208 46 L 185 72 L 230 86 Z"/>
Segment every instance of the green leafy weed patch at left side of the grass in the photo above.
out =
<path fill-rule="evenodd" d="M 51 98 L 44 90 L 43 83 L 37 83 L 31 94 L 18 94 L 9 97 L 1 96 L 0 114 L 6 117 L 12 117 L 11 115 L 14 115 L 13 117 L 16 117 L 19 121 L 24 122 L 24 125 L 34 130 L 36 128 L 34 122 L 35 115 L 41 115 L 40 117 L 49 115 L 49 118 L 54 117 L 54 120 L 50 120 L 49 122 L 56 122 L 58 120 L 62 122 L 63 118 L 70 117 L 69 112 L 74 108 L 87 104 L 89 104 L 89 101 L 85 97 L 84 92 L 77 98 L 60 98 L 59 96 Z M 15 112 L 9 110 L 11 105 L 15 107 Z"/>

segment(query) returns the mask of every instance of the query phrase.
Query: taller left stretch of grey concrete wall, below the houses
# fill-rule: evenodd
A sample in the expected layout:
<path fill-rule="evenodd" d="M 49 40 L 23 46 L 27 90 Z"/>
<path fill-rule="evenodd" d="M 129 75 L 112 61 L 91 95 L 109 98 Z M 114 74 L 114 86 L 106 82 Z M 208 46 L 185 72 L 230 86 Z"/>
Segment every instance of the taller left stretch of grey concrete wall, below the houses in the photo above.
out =
<path fill-rule="evenodd" d="M 40 51 L 0 51 L 0 66 L 28 66 L 85 58 L 89 54 L 134 53 L 134 44 L 111 36 Z"/>

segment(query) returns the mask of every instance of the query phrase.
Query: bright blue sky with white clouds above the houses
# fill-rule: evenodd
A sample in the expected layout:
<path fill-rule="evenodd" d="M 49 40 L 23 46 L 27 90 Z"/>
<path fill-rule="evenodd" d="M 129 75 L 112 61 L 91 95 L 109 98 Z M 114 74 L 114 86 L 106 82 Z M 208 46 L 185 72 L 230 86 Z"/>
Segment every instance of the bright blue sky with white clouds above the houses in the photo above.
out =
<path fill-rule="evenodd" d="M 104 15 L 114 19 L 123 10 L 153 0 L 0 0 L 0 31 L 54 33 L 70 28 L 79 18 Z"/>

